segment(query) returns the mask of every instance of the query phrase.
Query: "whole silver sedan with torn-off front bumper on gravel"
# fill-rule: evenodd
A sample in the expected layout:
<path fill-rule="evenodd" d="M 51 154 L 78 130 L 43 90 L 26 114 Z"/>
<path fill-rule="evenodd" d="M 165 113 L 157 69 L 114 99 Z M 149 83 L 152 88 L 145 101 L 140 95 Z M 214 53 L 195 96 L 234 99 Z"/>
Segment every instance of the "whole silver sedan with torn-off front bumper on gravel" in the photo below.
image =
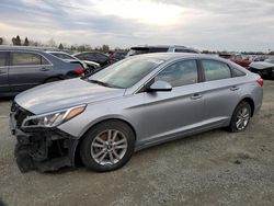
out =
<path fill-rule="evenodd" d="M 149 54 L 89 78 L 19 94 L 11 108 L 22 172 L 123 167 L 134 151 L 205 130 L 242 131 L 260 110 L 263 80 L 220 58 Z"/>

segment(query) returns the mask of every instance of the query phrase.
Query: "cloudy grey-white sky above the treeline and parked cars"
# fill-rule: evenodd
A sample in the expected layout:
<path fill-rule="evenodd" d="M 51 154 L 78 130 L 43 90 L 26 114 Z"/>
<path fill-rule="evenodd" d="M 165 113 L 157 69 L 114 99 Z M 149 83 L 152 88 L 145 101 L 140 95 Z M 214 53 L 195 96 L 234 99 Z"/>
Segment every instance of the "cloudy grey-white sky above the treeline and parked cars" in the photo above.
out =
<path fill-rule="evenodd" d="M 274 50 L 274 0 L 0 0 L 0 37 Z"/>

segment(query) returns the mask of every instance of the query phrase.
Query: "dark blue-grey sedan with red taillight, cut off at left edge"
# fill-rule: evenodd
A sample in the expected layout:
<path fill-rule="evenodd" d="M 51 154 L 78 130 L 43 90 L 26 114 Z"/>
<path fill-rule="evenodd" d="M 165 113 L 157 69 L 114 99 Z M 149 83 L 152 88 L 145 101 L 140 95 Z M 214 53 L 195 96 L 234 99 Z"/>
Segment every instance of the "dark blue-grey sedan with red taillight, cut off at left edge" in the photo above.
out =
<path fill-rule="evenodd" d="M 0 96 L 81 76 L 81 65 L 65 62 L 35 48 L 0 46 Z"/>

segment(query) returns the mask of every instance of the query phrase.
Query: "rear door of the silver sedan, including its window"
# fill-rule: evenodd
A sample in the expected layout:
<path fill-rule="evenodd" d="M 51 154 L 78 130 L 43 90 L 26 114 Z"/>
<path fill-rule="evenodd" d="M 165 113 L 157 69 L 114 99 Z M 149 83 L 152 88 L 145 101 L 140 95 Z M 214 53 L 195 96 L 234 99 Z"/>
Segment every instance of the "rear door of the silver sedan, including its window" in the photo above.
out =
<path fill-rule="evenodd" d="M 208 124 L 224 123 L 230 119 L 239 102 L 240 84 L 232 78 L 231 68 L 218 60 L 202 59 L 205 82 L 205 121 Z"/>

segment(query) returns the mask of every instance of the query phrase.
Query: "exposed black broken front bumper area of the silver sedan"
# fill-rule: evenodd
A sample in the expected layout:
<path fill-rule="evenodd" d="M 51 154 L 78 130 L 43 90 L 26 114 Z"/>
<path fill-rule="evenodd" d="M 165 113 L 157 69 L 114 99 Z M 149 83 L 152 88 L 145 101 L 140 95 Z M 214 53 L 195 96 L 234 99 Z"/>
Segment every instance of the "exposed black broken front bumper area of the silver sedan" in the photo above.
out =
<path fill-rule="evenodd" d="M 10 114 L 10 129 L 18 139 L 14 156 L 21 172 L 30 170 L 55 171 L 75 167 L 78 139 L 58 128 L 22 129 L 20 124 L 27 111 L 16 108 Z"/>

